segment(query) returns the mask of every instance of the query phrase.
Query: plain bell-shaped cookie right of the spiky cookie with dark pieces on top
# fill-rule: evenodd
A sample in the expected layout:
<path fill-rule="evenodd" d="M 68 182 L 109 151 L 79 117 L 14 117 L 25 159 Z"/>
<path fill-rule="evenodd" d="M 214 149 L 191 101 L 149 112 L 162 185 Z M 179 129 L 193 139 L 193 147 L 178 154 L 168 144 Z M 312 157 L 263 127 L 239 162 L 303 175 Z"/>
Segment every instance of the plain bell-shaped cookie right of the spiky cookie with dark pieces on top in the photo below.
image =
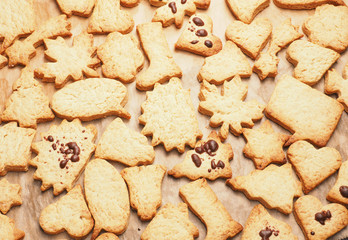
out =
<path fill-rule="evenodd" d="M 155 151 L 144 135 L 128 128 L 120 118 L 116 118 L 101 136 L 95 157 L 134 167 L 152 164 Z"/>

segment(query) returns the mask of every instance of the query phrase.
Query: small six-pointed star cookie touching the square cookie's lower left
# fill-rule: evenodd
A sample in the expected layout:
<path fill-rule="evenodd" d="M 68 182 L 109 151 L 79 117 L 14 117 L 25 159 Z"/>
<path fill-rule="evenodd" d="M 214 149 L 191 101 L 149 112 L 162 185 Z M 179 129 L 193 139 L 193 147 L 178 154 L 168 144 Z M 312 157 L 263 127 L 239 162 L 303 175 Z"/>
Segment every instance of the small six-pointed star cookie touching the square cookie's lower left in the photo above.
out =
<path fill-rule="evenodd" d="M 270 163 L 286 163 L 283 145 L 289 135 L 275 132 L 271 123 L 266 120 L 258 129 L 243 129 L 247 141 L 243 153 L 253 160 L 255 168 L 264 169 Z"/>

